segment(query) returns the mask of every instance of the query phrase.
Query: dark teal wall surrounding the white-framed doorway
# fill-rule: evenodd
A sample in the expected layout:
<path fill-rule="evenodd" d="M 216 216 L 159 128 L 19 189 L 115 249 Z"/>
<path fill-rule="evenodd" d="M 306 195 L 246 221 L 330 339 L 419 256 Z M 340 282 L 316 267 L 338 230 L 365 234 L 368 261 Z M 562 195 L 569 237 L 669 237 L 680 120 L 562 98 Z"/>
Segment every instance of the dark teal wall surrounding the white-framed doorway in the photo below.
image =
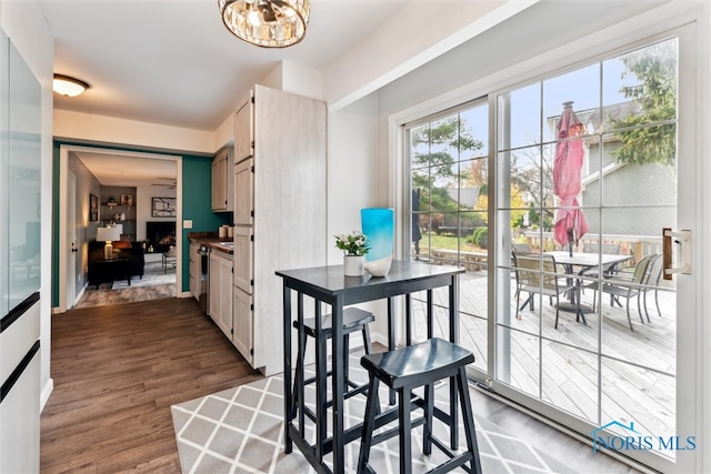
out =
<path fill-rule="evenodd" d="M 212 160 L 209 157 L 189 155 L 180 152 L 146 150 L 107 145 L 103 143 L 54 141 L 52 167 L 52 307 L 59 306 L 59 149 L 62 145 L 96 147 L 106 150 L 122 150 L 141 153 L 172 154 L 182 157 L 182 219 L 192 220 L 192 229 L 182 229 L 182 222 L 176 223 L 176 230 L 182 231 L 182 282 L 181 290 L 190 291 L 190 242 L 189 232 L 217 232 L 222 224 L 232 223 L 232 213 L 214 213 L 211 210 Z"/>

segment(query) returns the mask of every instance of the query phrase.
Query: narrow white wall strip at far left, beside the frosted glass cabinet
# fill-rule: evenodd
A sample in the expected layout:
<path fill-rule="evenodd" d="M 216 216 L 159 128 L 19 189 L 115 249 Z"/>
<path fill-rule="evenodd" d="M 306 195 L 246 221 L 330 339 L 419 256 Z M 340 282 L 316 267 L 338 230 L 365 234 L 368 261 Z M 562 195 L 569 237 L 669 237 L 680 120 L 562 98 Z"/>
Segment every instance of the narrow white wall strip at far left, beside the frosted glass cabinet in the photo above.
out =
<path fill-rule="evenodd" d="M 40 384 L 42 406 L 52 390 L 50 379 L 51 351 L 51 275 L 52 268 L 52 68 L 54 64 L 54 39 L 44 21 L 44 16 L 34 0 L 0 0 L 0 24 L 22 54 L 42 88 L 42 170 L 41 213 L 42 269 L 40 283 Z"/>

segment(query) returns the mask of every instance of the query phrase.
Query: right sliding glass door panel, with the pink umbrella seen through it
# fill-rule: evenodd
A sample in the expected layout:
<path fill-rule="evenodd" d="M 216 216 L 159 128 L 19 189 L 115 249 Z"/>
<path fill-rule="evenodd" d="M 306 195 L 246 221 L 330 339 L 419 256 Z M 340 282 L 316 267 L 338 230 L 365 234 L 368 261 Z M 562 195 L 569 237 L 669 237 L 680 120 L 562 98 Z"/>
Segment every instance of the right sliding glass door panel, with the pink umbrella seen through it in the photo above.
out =
<path fill-rule="evenodd" d="M 591 438 L 594 448 L 661 472 L 692 471 L 701 443 L 700 414 L 690 403 L 702 316 L 693 278 L 660 278 L 662 229 L 693 231 L 700 193 L 687 33 L 491 102 L 500 124 L 492 167 L 495 351 L 483 376 L 493 391 Z M 575 120 L 563 130 L 571 105 Z M 573 168 L 571 157 L 581 158 Z M 570 211 L 574 219 L 564 219 Z M 511 259 L 514 243 L 540 260 L 537 288 L 522 284 L 528 272 Z M 543 254 L 564 264 L 548 265 Z M 599 263 L 615 255 L 617 265 Z M 590 256 L 598 263 L 585 263 Z"/>

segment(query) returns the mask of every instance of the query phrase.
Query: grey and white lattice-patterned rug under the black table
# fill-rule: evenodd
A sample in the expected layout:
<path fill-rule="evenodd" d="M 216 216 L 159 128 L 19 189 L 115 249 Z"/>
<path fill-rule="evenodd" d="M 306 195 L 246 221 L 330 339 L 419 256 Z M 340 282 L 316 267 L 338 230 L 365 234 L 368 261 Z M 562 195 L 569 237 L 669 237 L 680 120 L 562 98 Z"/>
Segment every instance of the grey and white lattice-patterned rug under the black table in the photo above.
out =
<path fill-rule="evenodd" d="M 351 369 L 351 372 L 354 371 Z M 307 393 L 304 397 L 313 406 L 314 391 L 311 386 L 307 390 L 311 393 Z M 438 397 L 448 396 L 449 390 L 442 384 L 435 393 Z M 383 390 L 381 401 L 387 400 L 388 395 Z M 364 406 L 364 396 L 354 396 L 346 402 L 346 427 L 362 421 Z M 180 463 L 186 474 L 314 472 L 296 445 L 291 454 L 284 454 L 283 380 L 279 375 L 173 405 L 171 412 Z M 474 417 L 484 473 L 570 471 L 552 456 L 505 433 L 498 425 L 485 418 Z M 307 432 L 313 434 L 309 425 Z M 441 424 L 435 425 L 435 434 L 448 440 L 448 431 Z M 465 443 L 464 440 L 460 426 L 460 445 Z M 431 456 L 422 455 L 421 446 L 420 426 L 412 432 L 413 472 L 429 471 L 445 460 L 435 447 Z M 356 472 L 359 448 L 358 441 L 346 446 L 346 472 Z M 330 454 L 324 457 L 324 462 L 332 468 Z M 398 437 L 373 446 L 370 464 L 377 473 L 397 473 Z"/>

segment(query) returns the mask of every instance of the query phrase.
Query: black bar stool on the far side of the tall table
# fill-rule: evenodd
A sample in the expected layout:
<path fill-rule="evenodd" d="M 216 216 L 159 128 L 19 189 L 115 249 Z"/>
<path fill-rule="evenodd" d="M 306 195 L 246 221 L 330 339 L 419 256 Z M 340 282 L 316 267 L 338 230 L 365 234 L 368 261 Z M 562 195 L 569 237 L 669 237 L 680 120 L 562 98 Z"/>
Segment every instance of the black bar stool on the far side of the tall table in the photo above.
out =
<path fill-rule="evenodd" d="M 333 335 L 333 331 L 332 331 L 332 326 L 331 326 L 331 315 L 330 314 L 324 314 L 321 316 L 321 332 L 323 333 L 323 336 L 329 340 L 332 337 Z M 363 349 L 365 354 L 370 354 L 373 350 L 372 347 L 372 343 L 370 341 L 370 331 L 368 329 L 368 324 L 372 323 L 373 321 L 375 321 L 375 316 L 373 313 L 371 313 L 370 311 L 364 311 L 361 310 L 359 307 L 347 307 L 343 310 L 343 374 L 344 374 L 344 379 L 346 379 L 346 392 L 344 392 L 344 399 L 351 397 L 353 395 L 357 395 L 359 393 L 363 393 L 365 392 L 365 390 L 368 389 L 367 384 L 358 384 L 356 382 L 353 382 L 352 380 L 349 379 L 348 374 L 349 374 L 349 364 L 348 364 L 348 360 L 349 360 L 349 353 L 350 353 L 350 334 L 352 332 L 356 331 L 361 331 L 362 335 L 363 335 Z M 299 323 L 297 321 L 293 322 L 293 326 L 298 330 L 299 329 Z M 316 332 L 316 319 L 314 317 L 308 317 L 303 320 L 303 332 L 306 335 L 316 339 L 317 337 L 317 332 Z M 293 396 L 291 400 L 293 400 L 293 404 L 292 404 L 292 415 L 296 416 L 296 410 L 299 406 L 300 402 L 299 402 L 299 390 L 298 387 L 300 385 L 302 386 L 307 386 L 311 383 L 314 383 L 317 377 L 310 377 L 310 379 L 306 379 L 306 380 L 301 380 L 303 377 L 303 359 L 304 359 L 304 354 L 307 351 L 307 339 L 303 337 L 302 339 L 303 344 L 299 347 L 299 352 L 297 354 L 297 373 L 294 376 L 294 385 L 293 385 Z M 331 372 L 329 371 L 328 375 L 330 375 Z M 350 389 L 349 389 L 350 387 Z M 352 390 L 351 390 L 352 389 Z M 332 405 L 332 401 L 327 402 L 327 406 L 331 406 Z M 302 406 L 303 412 L 312 420 L 316 421 L 316 414 L 309 410 L 306 406 Z"/>

